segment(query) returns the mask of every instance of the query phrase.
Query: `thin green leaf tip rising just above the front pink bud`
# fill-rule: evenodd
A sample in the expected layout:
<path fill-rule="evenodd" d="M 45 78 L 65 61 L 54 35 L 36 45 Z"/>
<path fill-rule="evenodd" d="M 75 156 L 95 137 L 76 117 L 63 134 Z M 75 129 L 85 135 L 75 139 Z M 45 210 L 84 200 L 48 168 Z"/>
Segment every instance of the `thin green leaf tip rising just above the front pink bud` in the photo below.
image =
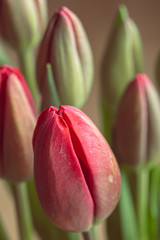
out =
<path fill-rule="evenodd" d="M 47 80 L 48 80 L 48 85 L 49 85 L 49 95 L 51 99 L 52 105 L 55 107 L 59 107 L 60 104 L 60 99 L 56 90 L 53 74 L 52 74 L 52 68 L 51 65 L 48 63 L 46 65 L 47 67 Z"/>

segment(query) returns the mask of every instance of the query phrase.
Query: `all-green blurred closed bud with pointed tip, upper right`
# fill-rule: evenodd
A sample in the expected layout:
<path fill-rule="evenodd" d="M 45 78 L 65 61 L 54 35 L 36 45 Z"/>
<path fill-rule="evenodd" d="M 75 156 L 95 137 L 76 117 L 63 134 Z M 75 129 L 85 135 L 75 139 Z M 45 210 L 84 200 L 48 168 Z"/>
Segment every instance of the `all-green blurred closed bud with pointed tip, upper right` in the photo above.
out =
<path fill-rule="evenodd" d="M 143 71 L 140 34 L 124 5 L 118 14 L 102 62 L 101 88 L 104 125 L 110 131 L 119 100 L 136 73 Z M 110 120 L 109 120 L 110 119 Z M 105 127 L 105 126 L 104 126 Z M 106 134 L 106 137 L 110 137 Z M 108 138 L 107 138 L 108 139 Z"/>

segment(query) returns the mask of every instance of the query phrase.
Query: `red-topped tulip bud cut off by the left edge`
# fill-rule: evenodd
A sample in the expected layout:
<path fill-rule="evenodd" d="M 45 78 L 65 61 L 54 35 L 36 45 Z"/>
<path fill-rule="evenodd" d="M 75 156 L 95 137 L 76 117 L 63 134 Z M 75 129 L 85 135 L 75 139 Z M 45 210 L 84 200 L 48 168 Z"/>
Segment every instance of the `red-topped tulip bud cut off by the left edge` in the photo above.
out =
<path fill-rule="evenodd" d="M 26 180 L 33 173 L 34 103 L 20 71 L 0 67 L 0 176 Z"/>

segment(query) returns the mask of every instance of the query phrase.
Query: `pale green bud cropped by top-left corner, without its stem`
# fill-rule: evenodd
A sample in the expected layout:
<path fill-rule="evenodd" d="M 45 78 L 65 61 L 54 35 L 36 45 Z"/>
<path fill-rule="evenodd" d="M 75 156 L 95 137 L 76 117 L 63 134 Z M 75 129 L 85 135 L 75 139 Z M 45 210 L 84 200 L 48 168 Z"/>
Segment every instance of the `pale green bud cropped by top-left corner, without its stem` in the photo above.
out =
<path fill-rule="evenodd" d="M 35 46 L 47 24 L 46 0 L 1 0 L 0 32 L 11 46 Z"/>

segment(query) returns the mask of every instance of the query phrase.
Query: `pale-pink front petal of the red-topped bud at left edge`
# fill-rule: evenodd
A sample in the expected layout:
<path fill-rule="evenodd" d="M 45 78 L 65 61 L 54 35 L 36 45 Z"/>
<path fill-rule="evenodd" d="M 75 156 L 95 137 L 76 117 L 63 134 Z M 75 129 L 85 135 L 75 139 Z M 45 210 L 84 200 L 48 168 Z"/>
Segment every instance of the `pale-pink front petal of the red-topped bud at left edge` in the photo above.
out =
<path fill-rule="evenodd" d="M 4 122 L 3 174 L 11 180 L 28 179 L 33 168 L 35 115 L 15 74 L 10 74 L 7 81 Z"/>

